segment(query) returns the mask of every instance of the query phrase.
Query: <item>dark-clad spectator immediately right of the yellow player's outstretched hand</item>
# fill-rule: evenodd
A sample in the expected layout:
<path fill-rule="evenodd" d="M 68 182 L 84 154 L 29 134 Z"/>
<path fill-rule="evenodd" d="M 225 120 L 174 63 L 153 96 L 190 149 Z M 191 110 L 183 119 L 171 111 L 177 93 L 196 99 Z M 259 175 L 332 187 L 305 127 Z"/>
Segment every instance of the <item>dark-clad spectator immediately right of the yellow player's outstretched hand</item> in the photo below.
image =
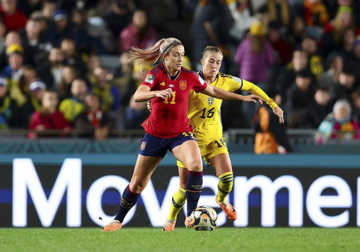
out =
<path fill-rule="evenodd" d="M 314 102 L 316 82 L 309 69 L 296 73 L 295 82 L 287 90 L 285 108 L 289 128 L 306 127 L 304 121 L 307 107 Z"/>

